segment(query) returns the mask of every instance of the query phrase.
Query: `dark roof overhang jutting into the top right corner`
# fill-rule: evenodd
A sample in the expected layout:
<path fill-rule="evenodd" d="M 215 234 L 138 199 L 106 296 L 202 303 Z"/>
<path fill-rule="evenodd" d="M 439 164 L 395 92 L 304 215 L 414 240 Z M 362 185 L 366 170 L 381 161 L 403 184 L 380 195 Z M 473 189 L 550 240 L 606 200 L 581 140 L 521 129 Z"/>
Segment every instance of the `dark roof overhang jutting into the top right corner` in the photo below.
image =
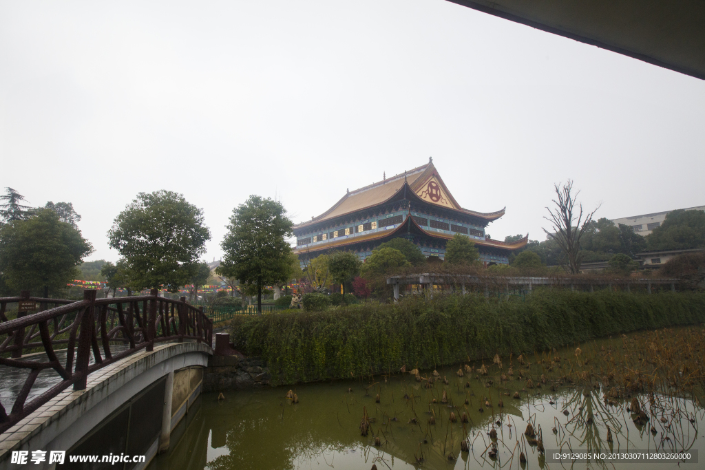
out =
<path fill-rule="evenodd" d="M 705 80 L 703 0 L 450 0 Z"/>

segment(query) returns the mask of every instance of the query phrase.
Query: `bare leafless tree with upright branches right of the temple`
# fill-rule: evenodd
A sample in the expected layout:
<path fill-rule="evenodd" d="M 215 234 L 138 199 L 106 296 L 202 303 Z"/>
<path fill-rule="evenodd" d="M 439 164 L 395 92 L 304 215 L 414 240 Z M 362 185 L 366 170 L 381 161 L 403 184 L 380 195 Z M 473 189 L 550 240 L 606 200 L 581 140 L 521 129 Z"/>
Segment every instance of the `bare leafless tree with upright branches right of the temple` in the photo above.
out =
<path fill-rule="evenodd" d="M 580 239 L 585 229 L 592 221 L 592 216 L 600 206 L 587 214 L 583 220 L 582 204 L 577 203 L 577 195 L 580 191 L 573 194 L 572 180 L 568 180 L 563 187 L 560 183 L 554 185 L 558 199 L 553 199 L 553 204 L 556 204 L 556 209 L 546 207 L 549 216 L 544 217 L 547 221 L 553 224 L 553 231 L 549 232 L 544 228 L 544 232 L 548 237 L 553 238 L 558 243 L 558 246 L 565 255 L 565 266 L 571 274 L 580 273 L 580 264 L 582 263 L 582 254 L 580 253 Z M 577 207 L 576 207 L 577 204 Z M 581 225 L 582 223 L 582 225 Z"/>

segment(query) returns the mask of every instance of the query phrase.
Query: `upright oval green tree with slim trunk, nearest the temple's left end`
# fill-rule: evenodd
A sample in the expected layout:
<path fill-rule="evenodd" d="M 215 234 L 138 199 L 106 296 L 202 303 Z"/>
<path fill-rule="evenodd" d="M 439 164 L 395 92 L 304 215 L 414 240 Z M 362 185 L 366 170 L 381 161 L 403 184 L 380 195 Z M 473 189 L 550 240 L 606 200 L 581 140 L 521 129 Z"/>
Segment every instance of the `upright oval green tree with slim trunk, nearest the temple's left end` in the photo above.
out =
<path fill-rule="evenodd" d="M 262 314 L 262 290 L 283 283 L 290 273 L 293 223 L 280 202 L 250 196 L 233 209 L 221 247 L 225 256 L 217 273 L 257 288 L 257 313 Z"/>

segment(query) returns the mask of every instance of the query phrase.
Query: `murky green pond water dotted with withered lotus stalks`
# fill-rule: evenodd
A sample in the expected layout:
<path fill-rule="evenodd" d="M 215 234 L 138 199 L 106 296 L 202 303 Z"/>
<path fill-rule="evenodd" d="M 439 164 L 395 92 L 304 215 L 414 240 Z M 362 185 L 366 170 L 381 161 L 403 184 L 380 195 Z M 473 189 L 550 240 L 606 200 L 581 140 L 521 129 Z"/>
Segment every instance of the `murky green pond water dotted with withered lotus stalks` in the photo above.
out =
<path fill-rule="evenodd" d="M 629 357 L 625 352 L 645 345 L 623 338 L 592 342 L 582 347 L 581 355 L 571 348 L 532 355 L 530 361 L 503 358 L 502 369 L 490 359 L 484 363 L 487 375 L 482 375 L 481 362 L 470 362 L 462 377 L 459 366 L 438 369 L 433 383 L 427 380 L 434 377 L 433 371 L 419 371 L 420 382 L 411 373 L 398 372 L 360 381 L 224 392 L 220 402 L 217 394 L 204 394 L 197 410 L 190 413 L 188 426 L 185 423 L 183 431 L 176 433 L 180 435 L 173 435 L 171 450 L 155 458 L 149 468 L 370 469 L 373 464 L 379 470 L 701 468 L 705 462 L 698 464 L 695 459 L 704 448 L 698 429 L 705 413 L 692 395 L 694 389 L 682 386 L 669 392 L 657 387 L 651 393 L 646 388 L 632 393 L 645 381 L 632 381 L 628 361 L 615 365 L 626 371 L 624 382 L 614 376 L 614 369 L 604 366 L 613 363 L 613 356 Z M 286 397 L 288 390 L 295 392 L 298 404 Z M 641 421 L 634 413 L 635 398 L 644 412 Z M 366 436 L 360 429 L 365 412 L 369 417 Z M 457 421 L 451 421 L 451 413 Z M 463 414 L 467 422 L 462 422 Z M 529 423 L 535 438 L 525 434 Z M 496 440 L 491 438 L 493 430 Z M 545 454 L 539 452 L 539 439 Z M 461 449 L 463 440 L 468 452 Z M 641 452 L 663 457 L 658 454 L 685 450 L 691 461 L 552 462 L 559 449 L 628 452 L 631 457 Z M 492 450 L 496 456 L 490 456 Z M 526 464 L 520 462 L 520 452 Z"/>

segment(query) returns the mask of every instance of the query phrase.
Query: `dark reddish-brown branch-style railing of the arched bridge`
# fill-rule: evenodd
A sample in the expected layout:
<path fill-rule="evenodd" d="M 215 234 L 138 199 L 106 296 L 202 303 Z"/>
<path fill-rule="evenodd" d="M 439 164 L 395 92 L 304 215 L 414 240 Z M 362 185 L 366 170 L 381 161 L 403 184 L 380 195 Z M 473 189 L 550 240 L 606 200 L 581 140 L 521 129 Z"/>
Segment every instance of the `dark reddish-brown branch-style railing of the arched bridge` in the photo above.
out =
<path fill-rule="evenodd" d="M 0 404 L 0 433 L 68 386 L 85 390 L 87 377 L 93 371 L 139 350 L 152 351 L 156 342 L 196 340 L 212 344 L 213 322 L 203 309 L 185 302 L 185 297 L 166 299 L 159 297 L 157 290 L 152 290 L 150 295 L 135 297 L 96 299 L 95 296 L 96 290 L 87 289 L 83 292 L 84 299 L 78 301 L 30 297 L 29 291 L 23 291 L 20 297 L 0 298 L 0 365 L 30 371 L 10 414 Z M 28 300 L 39 303 L 42 311 L 28 315 L 18 312 L 18 318 L 7 319 L 8 304 Z M 47 309 L 49 304 L 56 307 Z M 75 316 L 69 318 L 74 313 Z M 51 333 L 50 322 L 54 326 Z M 32 342 L 37 337 L 40 341 Z M 99 342 L 102 343 L 102 352 Z M 128 343 L 128 349 L 113 354 L 111 342 Z M 65 366 L 56 356 L 56 345 L 66 345 Z M 21 360 L 25 350 L 37 348 L 43 348 L 49 361 Z M 91 351 L 94 364 L 89 365 Z M 54 369 L 63 381 L 25 403 L 39 372 L 44 369 Z"/>

